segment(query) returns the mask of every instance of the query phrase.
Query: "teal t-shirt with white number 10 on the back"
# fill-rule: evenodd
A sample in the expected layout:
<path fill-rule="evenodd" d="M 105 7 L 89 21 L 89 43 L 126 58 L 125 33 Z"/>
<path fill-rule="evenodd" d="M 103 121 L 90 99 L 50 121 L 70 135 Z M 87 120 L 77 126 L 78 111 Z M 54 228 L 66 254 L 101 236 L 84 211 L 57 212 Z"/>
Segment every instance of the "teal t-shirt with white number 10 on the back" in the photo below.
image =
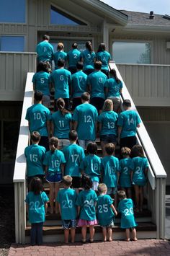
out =
<path fill-rule="evenodd" d="M 26 120 L 30 123 L 30 133 L 38 131 L 41 136 L 48 136 L 46 122 L 50 120 L 50 110 L 42 104 L 34 104 L 27 109 Z"/>

